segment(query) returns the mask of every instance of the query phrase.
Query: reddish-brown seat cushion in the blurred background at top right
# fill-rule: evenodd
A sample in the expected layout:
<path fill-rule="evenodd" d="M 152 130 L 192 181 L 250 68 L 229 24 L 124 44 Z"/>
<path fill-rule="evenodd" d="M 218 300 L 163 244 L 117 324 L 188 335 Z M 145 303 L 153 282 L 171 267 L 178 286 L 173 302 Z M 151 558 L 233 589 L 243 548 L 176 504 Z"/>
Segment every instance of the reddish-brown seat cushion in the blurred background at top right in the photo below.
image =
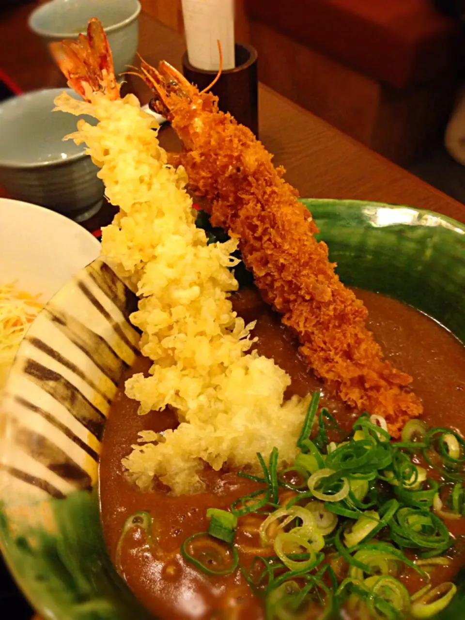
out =
<path fill-rule="evenodd" d="M 250 17 L 403 89 L 453 62 L 459 26 L 433 0 L 247 0 Z"/>

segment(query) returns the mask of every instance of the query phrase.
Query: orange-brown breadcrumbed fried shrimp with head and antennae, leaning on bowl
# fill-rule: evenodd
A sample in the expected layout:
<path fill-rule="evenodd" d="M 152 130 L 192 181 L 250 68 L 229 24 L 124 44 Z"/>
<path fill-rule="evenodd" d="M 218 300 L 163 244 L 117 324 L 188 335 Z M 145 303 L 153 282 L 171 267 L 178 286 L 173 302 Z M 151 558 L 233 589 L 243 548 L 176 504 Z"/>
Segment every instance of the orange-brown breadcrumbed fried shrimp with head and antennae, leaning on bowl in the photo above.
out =
<path fill-rule="evenodd" d="M 218 112 L 213 95 L 200 95 L 166 63 L 159 71 L 143 67 L 159 92 L 154 107 L 184 143 L 180 161 L 189 180 L 210 201 L 213 226 L 239 237 L 255 284 L 296 331 L 314 371 L 350 405 L 385 417 L 397 436 L 422 413 L 406 387 L 412 378 L 383 361 L 365 327 L 365 306 L 334 272 L 309 211 L 281 179 L 284 170 L 249 129 Z"/>

